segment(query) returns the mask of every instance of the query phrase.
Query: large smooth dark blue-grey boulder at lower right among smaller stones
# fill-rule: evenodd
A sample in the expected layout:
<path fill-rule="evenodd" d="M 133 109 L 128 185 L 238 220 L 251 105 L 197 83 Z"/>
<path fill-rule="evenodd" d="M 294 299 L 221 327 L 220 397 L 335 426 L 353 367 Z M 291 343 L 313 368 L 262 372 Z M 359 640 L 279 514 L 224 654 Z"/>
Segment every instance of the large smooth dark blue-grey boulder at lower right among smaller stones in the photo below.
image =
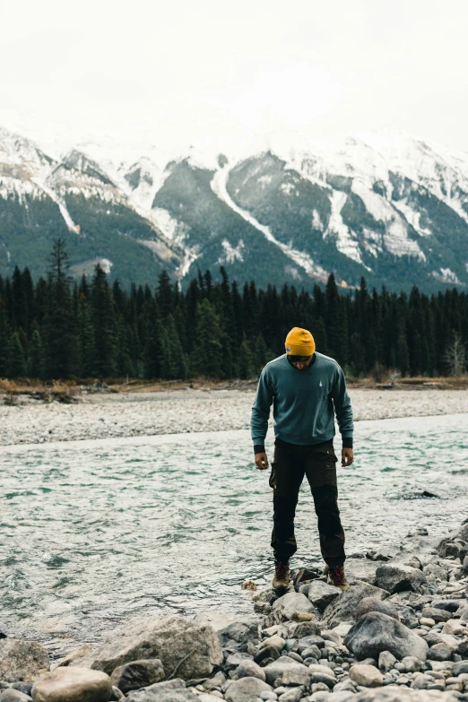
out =
<path fill-rule="evenodd" d="M 429 646 L 400 621 L 370 611 L 350 629 L 344 638 L 344 645 L 358 658 L 378 659 L 383 651 L 389 651 L 398 659 L 405 655 L 415 655 L 420 661 L 427 658 Z"/>

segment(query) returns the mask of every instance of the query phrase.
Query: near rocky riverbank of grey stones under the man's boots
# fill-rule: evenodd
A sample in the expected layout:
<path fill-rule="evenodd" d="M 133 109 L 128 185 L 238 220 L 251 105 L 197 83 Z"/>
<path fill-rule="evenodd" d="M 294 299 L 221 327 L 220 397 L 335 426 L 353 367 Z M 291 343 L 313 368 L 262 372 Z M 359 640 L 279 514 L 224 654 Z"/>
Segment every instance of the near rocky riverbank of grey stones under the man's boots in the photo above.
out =
<path fill-rule="evenodd" d="M 50 671 L 37 642 L 0 641 L 0 702 L 468 700 L 468 520 L 434 540 L 347 561 L 341 592 L 316 569 L 252 589 L 253 613 L 129 620 Z"/>

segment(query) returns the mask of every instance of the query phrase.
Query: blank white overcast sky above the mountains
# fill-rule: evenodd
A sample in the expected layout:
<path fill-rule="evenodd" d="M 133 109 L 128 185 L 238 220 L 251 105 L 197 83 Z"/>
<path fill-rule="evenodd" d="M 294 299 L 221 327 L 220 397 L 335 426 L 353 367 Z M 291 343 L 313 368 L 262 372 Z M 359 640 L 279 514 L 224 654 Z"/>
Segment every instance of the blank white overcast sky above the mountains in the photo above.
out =
<path fill-rule="evenodd" d="M 0 124 L 160 146 L 396 127 L 468 150 L 466 0 L 0 0 Z M 62 131 L 65 126 L 65 132 Z"/>

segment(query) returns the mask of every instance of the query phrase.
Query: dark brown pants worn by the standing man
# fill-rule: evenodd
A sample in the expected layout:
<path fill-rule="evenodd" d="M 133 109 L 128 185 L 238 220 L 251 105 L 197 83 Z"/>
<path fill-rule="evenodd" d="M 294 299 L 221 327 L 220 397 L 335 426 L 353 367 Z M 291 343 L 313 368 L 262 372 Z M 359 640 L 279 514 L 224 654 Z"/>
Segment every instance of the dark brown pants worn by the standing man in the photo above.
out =
<path fill-rule="evenodd" d="M 272 548 L 276 560 L 287 562 L 298 548 L 294 516 L 299 488 L 306 475 L 316 507 L 322 556 L 329 568 L 343 565 L 346 555 L 337 501 L 336 461 L 333 441 L 299 446 L 275 439 L 270 486 L 273 488 Z"/>

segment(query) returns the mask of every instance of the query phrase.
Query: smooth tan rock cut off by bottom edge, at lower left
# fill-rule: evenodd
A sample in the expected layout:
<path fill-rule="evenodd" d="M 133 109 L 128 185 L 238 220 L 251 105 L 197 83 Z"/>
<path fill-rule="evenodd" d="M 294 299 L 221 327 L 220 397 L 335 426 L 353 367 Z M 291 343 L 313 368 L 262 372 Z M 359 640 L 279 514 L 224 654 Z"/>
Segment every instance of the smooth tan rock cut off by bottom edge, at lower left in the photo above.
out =
<path fill-rule="evenodd" d="M 32 686 L 34 702 L 108 702 L 112 683 L 105 672 L 89 668 L 56 668 Z"/>

